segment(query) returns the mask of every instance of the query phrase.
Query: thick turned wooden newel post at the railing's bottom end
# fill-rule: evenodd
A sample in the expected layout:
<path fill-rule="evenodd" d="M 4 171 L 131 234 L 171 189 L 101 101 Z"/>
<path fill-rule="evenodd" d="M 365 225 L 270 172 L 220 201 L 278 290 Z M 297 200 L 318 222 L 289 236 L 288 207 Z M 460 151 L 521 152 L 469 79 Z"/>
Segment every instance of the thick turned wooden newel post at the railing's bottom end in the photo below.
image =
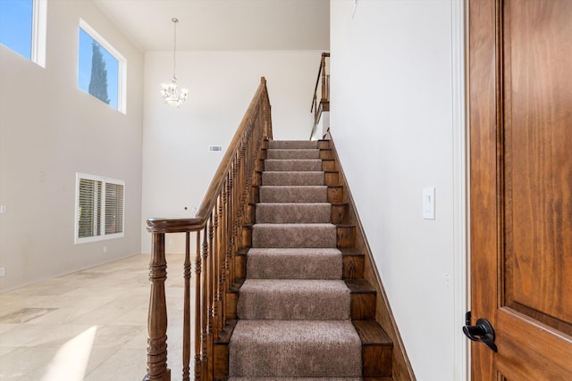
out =
<path fill-rule="evenodd" d="M 167 369 L 167 304 L 164 281 L 167 261 L 164 256 L 164 233 L 152 233 L 153 248 L 149 261 L 149 312 L 147 317 L 147 376 L 143 381 L 171 381 Z"/>

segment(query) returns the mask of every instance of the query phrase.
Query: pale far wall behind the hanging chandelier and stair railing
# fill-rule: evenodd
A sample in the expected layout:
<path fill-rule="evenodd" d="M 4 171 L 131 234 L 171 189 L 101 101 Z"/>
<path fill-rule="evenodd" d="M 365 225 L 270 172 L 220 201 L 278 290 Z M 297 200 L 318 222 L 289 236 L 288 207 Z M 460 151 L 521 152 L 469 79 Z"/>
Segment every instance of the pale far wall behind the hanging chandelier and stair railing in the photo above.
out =
<path fill-rule="evenodd" d="M 272 104 L 274 139 L 307 140 L 322 51 L 177 52 L 176 76 L 189 98 L 180 108 L 164 104 L 161 83 L 172 78 L 172 52 L 145 57 L 143 224 L 141 250 L 151 251 L 145 221 L 194 215 L 260 78 Z M 222 152 L 209 152 L 222 145 Z M 186 209 L 185 209 L 186 208 Z M 168 253 L 184 253 L 184 236 L 165 238 Z M 191 248 L 194 248 L 191 245 Z"/>

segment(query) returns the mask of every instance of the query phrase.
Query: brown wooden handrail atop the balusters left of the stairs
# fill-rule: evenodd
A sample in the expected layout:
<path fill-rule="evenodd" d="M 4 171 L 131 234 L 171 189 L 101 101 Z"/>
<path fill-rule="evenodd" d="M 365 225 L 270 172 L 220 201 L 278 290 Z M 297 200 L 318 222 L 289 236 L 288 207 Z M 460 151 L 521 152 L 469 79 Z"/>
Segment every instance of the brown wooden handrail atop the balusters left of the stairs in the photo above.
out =
<path fill-rule="evenodd" d="M 330 54 L 328 54 L 329 56 Z M 316 85 L 317 86 L 317 85 Z M 223 174 L 226 173 L 231 166 L 231 159 L 232 156 L 235 154 L 235 151 L 232 149 L 235 147 L 242 134 L 244 134 L 244 130 L 247 128 L 248 117 L 254 110 L 255 106 L 257 105 L 258 98 L 263 94 L 268 97 L 266 89 L 266 79 L 265 77 L 261 77 L 260 85 L 257 88 L 257 92 L 250 101 L 248 105 L 247 112 L 245 112 L 244 117 L 240 121 L 239 128 L 237 129 L 234 137 L 232 137 L 231 144 L 229 148 L 224 153 L 223 160 L 218 166 L 218 169 L 214 173 L 213 180 L 208 186 L 206 190 L 205 196 L 203 197 L 203 201 L 198 207 L 197 212 L 195 213 L 195 217 L 191 219 L 162 219 L 162 218 L 152 218 L 147 219 L 147 231 L 151 233 L 184 233 L 187 231 L 197 231 L 201 228 L 205 228 L 206 220 L 210 215 L 210 211 L 212 211 L 214 207 L 214 202 L 216 201 L 215 195 L 218 195 L 221 191 L 221 187 L 223 186 Z M 266 132 L 266 137 L 272 138 L 272 131 L 270 136 L 268 136 L 268 131 Z"/>

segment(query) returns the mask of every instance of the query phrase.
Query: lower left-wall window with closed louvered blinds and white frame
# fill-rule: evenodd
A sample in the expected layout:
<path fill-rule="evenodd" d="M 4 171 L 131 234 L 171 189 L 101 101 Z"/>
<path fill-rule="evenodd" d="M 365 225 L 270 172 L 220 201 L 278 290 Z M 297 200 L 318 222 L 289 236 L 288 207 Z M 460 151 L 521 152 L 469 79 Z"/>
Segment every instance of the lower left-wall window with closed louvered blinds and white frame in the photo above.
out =
<path fill-rule="evenodd" d="M 76 174 L 75 243 L 123 236 L 125 182 Z"/>

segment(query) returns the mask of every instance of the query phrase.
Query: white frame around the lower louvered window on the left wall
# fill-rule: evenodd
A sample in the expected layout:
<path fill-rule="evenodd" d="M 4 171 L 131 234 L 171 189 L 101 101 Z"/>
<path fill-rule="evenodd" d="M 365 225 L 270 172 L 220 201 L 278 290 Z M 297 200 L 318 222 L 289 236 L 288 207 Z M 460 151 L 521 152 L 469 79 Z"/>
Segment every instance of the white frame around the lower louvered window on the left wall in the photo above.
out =
<path fill-rule="evenodd" d="M 80 179 L 87 178 L 90 180 L 101 181 L 104 186 L 102 187 L 102 206 L 101 206 L 101 216 L 102 224 L 104 226 L 103 232 L 99 236 L 88 236 L 80 238 L 78 236 L 79 226 L 80 226 Z M 105 184 L 117 184 L 123 186 L 123 216 L 122 216 L 122 232 L 114 234 L 105 234 Z M 105 178 L 102 176 L 89 175 L 88 173 L 76 172 L 75 174 L 75 216 L 73 223 L 73 243 L 74 244 L 87 244 L 88 242 L 105 241 L 107 239 L 122 238 L 125 236 L 125 181 L 118 180 L 115 178 Z"/>

